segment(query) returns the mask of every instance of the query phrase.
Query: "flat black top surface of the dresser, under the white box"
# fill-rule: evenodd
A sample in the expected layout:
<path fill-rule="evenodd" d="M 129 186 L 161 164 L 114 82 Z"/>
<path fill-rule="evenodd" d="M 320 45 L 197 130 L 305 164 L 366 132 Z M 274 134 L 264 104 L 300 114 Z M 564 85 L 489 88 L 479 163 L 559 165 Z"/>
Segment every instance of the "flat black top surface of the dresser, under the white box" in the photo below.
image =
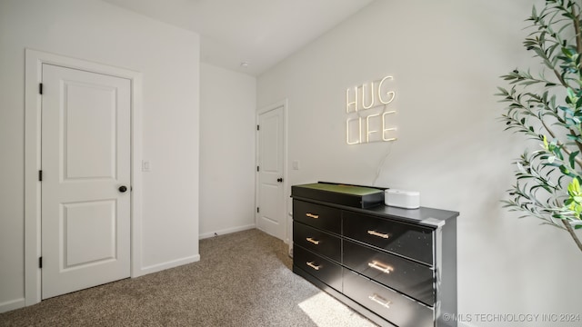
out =
<path fill-rule="evenodd" d="M 420 207 L 418 209 L 404 209 L 379 204 L 372 208 L 360 209 L 336 203 L 317 201 L 300 196 L 293 196 L 293 198 L 296 200 L 306 201 L 309 203 L 324 204 L 330 207 L 350 211 L 353 213 L 372 214 L 381 218 L 395 219 L 404 223 L 415 223 L 425 225 L 431 228 L 441 227 L 445 225 L 445 223 L 447 223 L 447 220 L 457 218 L 457 216 L 459 215 L 459 213 L 453 211 L 426 207 Z"/>

